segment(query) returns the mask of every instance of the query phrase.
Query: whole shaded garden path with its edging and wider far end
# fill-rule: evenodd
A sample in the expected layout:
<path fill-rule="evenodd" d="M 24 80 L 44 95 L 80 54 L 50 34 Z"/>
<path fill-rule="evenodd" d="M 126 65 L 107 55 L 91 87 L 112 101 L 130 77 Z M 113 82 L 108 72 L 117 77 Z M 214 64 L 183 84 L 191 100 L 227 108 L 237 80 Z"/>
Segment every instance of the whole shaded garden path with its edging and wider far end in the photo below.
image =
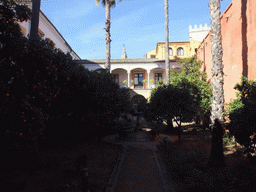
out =
<path fill-rule="evenodd" d="M 145 126 L 144 126 L 145 127 Z M 165 167 L 157 154 L 158 140 L 149 140 L 147 131 L 129 133 L 112 141 L 125 147 L 111 176 L 108 192 L 168 192 L 173 191 L 167 182 Z"/>

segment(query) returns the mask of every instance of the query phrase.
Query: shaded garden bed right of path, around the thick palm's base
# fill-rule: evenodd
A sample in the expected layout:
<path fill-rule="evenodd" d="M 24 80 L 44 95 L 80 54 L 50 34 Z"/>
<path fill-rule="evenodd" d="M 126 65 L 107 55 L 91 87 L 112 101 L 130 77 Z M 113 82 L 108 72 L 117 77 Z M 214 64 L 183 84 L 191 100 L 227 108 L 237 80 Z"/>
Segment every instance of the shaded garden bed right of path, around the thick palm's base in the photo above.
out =
<path fill-rule="evenodd" d="M 168 137 L 169 144 L 162 143 L 157 148 L 177 191 L 253 192 L 256 189 L 256 165 L 248 161 L 241 147 L 224 147 L 227 166 L 213 169 L 206 166 L 211 151 L 209 131 L 186 135 L 187 139 L 182 135 L 180 145 L 177 136 Z"/>

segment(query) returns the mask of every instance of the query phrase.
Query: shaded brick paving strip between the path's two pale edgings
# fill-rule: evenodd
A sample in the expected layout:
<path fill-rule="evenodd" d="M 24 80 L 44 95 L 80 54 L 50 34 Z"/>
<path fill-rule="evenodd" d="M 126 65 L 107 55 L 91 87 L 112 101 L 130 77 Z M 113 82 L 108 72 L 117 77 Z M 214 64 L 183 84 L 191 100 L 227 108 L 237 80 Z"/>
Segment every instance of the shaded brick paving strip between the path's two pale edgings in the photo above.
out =
<path fill-rule="evenodd" d="M 153 149 L 132 145 L 127 147 L 114 191 L 165 191 Z"/>

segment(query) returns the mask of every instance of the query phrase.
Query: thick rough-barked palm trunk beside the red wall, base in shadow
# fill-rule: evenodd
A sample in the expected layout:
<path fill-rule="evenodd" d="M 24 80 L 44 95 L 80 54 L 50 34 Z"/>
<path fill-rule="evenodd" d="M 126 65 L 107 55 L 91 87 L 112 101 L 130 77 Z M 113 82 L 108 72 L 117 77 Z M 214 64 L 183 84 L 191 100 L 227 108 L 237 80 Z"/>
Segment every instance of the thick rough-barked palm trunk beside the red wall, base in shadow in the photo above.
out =
<path fill-rule="evenodd" d="M 222 39 L 220 23 L 220 0 L 210 0 L 211 45 L 212 45 L 212 149 L 208 165 L 224 165 L 223 123 L 224 123 L 224 90 L 222 65 Z"/>

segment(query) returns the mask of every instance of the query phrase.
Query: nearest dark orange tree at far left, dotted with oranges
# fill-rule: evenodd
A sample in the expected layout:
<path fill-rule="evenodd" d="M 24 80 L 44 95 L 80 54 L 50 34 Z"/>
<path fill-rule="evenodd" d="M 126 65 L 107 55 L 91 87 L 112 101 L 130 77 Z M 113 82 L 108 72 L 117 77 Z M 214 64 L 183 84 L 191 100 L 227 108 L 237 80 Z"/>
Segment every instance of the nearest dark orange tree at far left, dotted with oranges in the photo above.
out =
<path fill-rule="evenodd" d="M 32 141 L 29 145 L 37 149 L 53 114 L 51 103 L 65 83 L 58 81 L 59 71 L 72 66 L 72 59 L 47 39 L 29 41 L 23 36 L 16 22 L 29 19 L 26 6 L 5 0 L 0 14 L 1 134 L 8 130 L 14 142 Z"/>

